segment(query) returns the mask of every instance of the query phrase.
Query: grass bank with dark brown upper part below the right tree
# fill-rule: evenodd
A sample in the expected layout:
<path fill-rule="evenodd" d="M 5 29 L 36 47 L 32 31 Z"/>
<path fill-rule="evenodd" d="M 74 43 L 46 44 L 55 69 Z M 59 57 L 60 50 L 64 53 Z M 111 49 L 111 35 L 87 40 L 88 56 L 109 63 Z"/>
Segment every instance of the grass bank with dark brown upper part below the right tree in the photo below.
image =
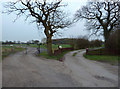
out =
<path fill-rule="evenodd" d="M 84 57 L 90 60 L 105 62 L 112 65 L 118 65 L 118 62 L 120 61 L 120 55 L 118 56 L 114 50 L 109 51 L 104 48 L 89 50 L 87 55 L 84 54 Z"/>

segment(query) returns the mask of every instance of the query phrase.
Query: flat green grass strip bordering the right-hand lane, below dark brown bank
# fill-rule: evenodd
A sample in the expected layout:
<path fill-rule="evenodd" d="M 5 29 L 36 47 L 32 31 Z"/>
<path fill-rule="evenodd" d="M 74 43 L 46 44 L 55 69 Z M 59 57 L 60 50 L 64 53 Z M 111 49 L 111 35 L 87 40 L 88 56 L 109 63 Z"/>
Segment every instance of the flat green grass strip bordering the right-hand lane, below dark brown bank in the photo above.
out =
<path fill-rule="evenodd" d="M 86 55 L 84 54 L 84 57 L 90 60 L 100 61 L 109 63 L 112 65 L 117 65 L 118 60 L 120 60 L 120 56 L 108 56 L 108 55 Z"/>

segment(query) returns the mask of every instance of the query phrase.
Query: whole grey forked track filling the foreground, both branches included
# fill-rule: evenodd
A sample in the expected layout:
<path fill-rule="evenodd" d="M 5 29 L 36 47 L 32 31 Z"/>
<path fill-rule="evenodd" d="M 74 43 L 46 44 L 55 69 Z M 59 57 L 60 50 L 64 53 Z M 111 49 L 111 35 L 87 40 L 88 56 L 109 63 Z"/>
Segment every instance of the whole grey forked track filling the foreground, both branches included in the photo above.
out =
<path fill-rule="evenodd" d="M 27 55 L 20 52 L 3 60 L 3 87 L 117 86 L 117 67 L 84 59 L 83 51 L 75 57 L 74 52 L 66 54 L 64 62 L 38 58 L 34 52 L 30 48 Z"/>

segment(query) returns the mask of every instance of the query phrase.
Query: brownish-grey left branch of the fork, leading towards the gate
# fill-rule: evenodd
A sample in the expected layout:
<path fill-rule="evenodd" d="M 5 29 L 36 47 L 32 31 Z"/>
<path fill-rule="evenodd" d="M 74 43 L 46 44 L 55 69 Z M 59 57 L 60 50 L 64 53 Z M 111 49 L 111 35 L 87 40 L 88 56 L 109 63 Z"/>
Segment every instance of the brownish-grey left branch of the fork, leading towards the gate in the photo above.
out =
<path fill-rule="evenodd" d="M 75 87 L 62 62 L 39 58 L 36 49 L 19 52 L 3 60 L 3 87 Z"/>

